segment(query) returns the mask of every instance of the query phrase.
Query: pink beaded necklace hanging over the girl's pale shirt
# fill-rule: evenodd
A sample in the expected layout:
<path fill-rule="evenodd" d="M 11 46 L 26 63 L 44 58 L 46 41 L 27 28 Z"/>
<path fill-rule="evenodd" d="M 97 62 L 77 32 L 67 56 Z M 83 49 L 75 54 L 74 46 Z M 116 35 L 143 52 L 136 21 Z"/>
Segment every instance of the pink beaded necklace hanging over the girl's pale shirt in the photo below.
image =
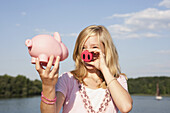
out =
<path fill-rule="evenodd" d="M 109 102 L 111 101 L 110 93 L 109 93 L 108 89 L 106 89 L 105 98 L 103 99 L 103 102 L 100 104 L 100 108 L 98 109 L 98 111 L 95 111 L 93 109 L 93 106 L 91 105 L 90 99 L 86 93 L 84 85 L 83 84 L 81 85 L 80 83 L 79 83 L 79 92 L 83 99 L 84 107 L 88 113 L 102 113 L 102 112 L 106 111 L 106 108 L 107 108 Z"/>

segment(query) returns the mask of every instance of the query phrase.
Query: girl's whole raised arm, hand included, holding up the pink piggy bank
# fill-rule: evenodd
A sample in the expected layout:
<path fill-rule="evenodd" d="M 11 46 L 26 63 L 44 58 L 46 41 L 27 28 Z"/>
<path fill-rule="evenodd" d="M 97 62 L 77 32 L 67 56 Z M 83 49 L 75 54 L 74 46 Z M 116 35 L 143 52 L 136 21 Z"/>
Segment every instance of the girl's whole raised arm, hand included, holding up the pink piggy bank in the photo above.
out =
<path fill-rule="evenodd" d="M 59 113 L 65 100 L 65 97 L 62 93 L 56 93 L 55 91 L 55 85 L 58 81 L 60 57 L 56 58 L 55 65 L 51 69 L 53 60 L 54 56 L 51 56 L 46 69 L 41 66 L 38 59 L 36 60 L 36 70 L 38 71 L 42 80 L 42 92 L 44 96 L 44 98 L 42 98 L 44 102 L 41 100 L 40 105 L 41 113 Z M 55 97 L 56 102 L 48 101 L 48 99 L 53 100 Z"/>

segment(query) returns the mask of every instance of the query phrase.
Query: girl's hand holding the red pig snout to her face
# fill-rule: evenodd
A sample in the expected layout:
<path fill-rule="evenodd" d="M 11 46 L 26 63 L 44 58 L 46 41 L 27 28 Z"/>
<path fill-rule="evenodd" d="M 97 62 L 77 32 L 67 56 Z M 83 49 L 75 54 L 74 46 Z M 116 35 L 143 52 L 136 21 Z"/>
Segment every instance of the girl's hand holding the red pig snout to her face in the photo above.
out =
<path fill-rule="evenodd" d="M 91 49 L 89 52 L 94 53 L 94 59 L 88 62 L 88 64 L 95 66 L 98 70 L 102 70 L 103 67 L 106 67 L 105 55 L 100 49 Z"/>

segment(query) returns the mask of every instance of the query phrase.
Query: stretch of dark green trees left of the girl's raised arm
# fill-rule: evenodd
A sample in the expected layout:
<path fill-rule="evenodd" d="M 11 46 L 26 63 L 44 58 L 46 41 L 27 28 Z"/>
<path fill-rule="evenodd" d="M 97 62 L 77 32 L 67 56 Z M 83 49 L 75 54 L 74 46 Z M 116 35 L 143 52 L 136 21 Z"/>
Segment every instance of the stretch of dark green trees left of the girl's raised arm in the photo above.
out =
<path fill-rule="evenodd" d="M 0 76 L 0 98 L 35 96 L 40 95 L 41 90 L 40 80 L 30 80 L 23 75 Z"/>

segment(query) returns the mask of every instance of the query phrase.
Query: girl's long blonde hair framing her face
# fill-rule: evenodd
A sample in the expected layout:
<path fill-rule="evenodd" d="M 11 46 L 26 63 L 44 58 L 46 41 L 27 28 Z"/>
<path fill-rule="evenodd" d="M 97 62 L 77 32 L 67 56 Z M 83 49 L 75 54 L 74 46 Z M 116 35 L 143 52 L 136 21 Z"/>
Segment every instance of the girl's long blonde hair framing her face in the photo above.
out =
<path fill-rule="evenodd" d="M 73 76 L 80 82 L 84 83 L 83 79 L 87 76 L 87 70 L 81 59 L 81 53 L 85 41 L 90 37 L 96 35 L 99 42 L 104 45 L 104 54 L 106 57 L 106 65 L 108 66 L 111 74 L 119 77 L 121 70 L 118 62 L 118 53 L 108 30 L 102 25 L 91 25 L 83 29 L 75 44 L 73 52 L 73 60 L 75 61 L 75 70 L 71 71 Z M 104 78 L 103 78 L 104 79 Z M 104 80 L 105 82 L 105 80 Z"/>

